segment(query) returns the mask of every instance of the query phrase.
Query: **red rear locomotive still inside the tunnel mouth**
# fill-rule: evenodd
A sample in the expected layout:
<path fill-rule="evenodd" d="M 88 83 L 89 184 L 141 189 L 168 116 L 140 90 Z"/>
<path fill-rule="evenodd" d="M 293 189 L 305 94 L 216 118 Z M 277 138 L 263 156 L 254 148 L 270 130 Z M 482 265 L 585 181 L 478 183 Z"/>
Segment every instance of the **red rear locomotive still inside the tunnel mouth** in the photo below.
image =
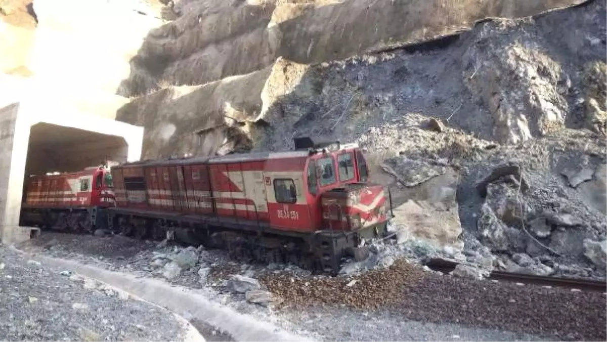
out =
<path fill-rule="evenodd" d="M 73 232 L 107 227 L 114 207 L 112 175 L 106 165 L 76 173 L 32 175 L 26 181 L 19 224 Z"/>

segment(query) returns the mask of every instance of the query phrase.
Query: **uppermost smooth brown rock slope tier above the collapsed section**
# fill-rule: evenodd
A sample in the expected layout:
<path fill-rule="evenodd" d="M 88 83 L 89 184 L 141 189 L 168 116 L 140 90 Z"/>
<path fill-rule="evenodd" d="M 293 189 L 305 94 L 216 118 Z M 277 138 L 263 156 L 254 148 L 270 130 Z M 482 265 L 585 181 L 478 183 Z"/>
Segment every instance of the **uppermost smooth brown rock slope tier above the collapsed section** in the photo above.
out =
<path fill-rule="evenodd" d="M 178 18 L 146 38 L 121 94 L 143 94 L 161 80 L 203 84 L 249 74 L 279 56 L 303 64 L 340 60 L 452 35 L 486 18 L 521 18 L 582 2 L 182 1 L 175 5 Z"/>

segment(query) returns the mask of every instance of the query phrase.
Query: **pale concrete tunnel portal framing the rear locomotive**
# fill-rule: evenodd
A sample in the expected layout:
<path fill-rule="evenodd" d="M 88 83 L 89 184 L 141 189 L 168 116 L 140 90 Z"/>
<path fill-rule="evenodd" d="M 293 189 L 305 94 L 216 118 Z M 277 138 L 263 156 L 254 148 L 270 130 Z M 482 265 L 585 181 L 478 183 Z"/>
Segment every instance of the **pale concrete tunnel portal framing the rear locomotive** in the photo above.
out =
<path fill-rule="evenodd" d="M 27 178 L 32 174 L 80 171 L 103 162 L 141 157 L 143 128 L 81 112 L 49 117 L 36 106 L 0 108 L 0 240 L 28 239 L 19 227 Z M 54 111 L 53 111 L 54 112 Z"/>

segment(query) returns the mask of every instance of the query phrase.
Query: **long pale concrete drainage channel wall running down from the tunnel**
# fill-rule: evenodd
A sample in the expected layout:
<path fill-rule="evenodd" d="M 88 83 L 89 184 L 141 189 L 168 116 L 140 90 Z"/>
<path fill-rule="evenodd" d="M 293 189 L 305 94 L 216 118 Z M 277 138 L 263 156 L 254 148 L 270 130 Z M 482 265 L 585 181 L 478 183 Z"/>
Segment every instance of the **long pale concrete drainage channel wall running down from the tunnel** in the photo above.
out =
<path fill-rule="evenodd" d="M 20 250 L 17 251 L 24 253 Z M 104 282 L 144 301 L 171 310 L 177 315 L 182 317 L 187 316 L 191 318 L 190 321 L 197 321 L 198 323 L 203 323 L 203 325 L 208 324 L 218 330 L 229 333 L 234 340 L 239 342 L 311 341 L 281 330 L 273 324 L 257 321 L 251 316 L 242 315 L 228 307 L 211 303 L 203 296 L 185 287 L 172 286 L 158 279 L 135 278 L 135 276 L 47 256 L 38 255 L 34 256 L 33 259 L 43 264 L 71 270 L 80 275 Z M 198 341 L 205 340 L 198 338 Z"/>

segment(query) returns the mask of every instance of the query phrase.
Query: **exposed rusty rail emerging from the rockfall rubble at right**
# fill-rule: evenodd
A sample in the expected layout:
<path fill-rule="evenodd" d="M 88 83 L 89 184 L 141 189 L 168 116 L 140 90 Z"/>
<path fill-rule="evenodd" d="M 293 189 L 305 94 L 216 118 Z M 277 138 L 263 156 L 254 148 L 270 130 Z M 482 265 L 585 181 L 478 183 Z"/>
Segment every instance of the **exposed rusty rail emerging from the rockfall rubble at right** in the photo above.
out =
<path fill-rule="evenodd" d="M 433 270 L 440 271 L 443 273 L 449 273 L 455 269 L 458 263 L 447 261 L 444 259 L 430 259 L 428 262 L 426 262 L 426 265 L 432 268 Z M 488 279 L 607 293 L 606 281 L 597 281 L 590 279 L 527 275 L 524 273 L 512 273 L 503 271 L 491 272 Z"/>

